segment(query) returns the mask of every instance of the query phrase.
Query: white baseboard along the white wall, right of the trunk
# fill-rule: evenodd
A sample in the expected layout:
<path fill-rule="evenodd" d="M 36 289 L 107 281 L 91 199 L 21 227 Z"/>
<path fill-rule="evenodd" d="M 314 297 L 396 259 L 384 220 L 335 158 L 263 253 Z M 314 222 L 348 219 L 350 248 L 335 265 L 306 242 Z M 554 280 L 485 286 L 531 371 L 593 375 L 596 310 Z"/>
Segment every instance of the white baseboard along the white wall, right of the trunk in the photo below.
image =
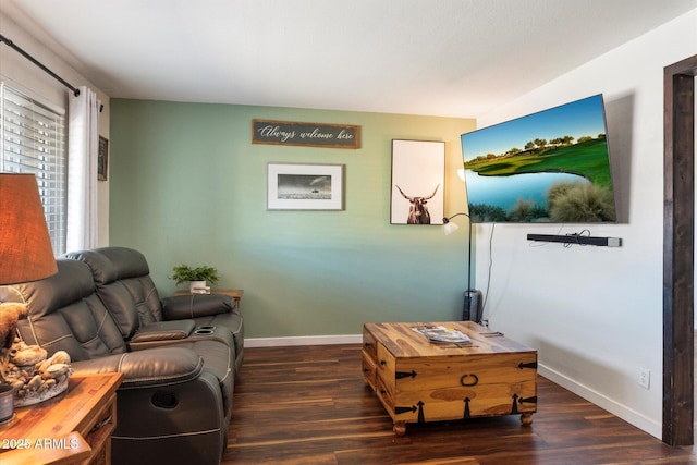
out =
<path fill-rule="evenodd" d="M 640 413 L 627 407 L 626 405 L 609 399 L 586 386 L 579 384 L 575 380 L 561 375 L 558 371 L 554 371 L 543 365 L 538 365 L 537 371 L 545 378 L 573 392 L 574 394 L 584 397 L 588 402 L 592 402 L 600 408 L 604 408 L 612 415 L 622 418 L 628 424 L 636 426 L 640 430 L 648 432 L 649 435 L 658 439 L 661 439 L 663 428 L 660 423 L 656 423 L 645 415 L 641 415 Z"/>

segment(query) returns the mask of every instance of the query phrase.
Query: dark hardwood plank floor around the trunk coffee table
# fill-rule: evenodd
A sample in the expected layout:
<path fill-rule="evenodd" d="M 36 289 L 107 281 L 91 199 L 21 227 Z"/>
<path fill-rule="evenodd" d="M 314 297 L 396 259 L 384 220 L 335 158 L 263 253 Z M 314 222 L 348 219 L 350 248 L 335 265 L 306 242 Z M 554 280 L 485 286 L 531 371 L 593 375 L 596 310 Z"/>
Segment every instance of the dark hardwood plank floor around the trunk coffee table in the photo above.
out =
<path fill-rule="evenodd" d="M 246 348 L 222 464 L 697 464 L 697 449 L 670 448 L 542 377 L 538 400 L 529 427 L 474 418 L 398 438 L 364 386 L 359 344 Z"/>

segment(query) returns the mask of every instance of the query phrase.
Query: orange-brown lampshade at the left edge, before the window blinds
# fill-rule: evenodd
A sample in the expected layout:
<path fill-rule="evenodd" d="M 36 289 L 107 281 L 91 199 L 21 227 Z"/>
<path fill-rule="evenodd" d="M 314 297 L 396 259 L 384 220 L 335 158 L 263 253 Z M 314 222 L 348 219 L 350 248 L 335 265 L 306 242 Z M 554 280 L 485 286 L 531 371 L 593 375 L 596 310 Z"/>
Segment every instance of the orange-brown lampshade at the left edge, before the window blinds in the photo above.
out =
<path fill-rule="evenodd" d="M 34 174 L 0 173 L 0 284 L 58 272 Z"/>

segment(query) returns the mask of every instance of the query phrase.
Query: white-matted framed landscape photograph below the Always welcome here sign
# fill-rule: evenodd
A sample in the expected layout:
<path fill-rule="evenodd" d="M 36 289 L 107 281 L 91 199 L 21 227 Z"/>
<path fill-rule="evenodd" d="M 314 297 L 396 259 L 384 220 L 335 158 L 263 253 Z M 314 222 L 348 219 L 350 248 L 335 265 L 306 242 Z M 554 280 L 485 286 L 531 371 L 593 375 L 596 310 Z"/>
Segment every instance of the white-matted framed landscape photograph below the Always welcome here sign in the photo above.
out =
<path fill-rule="evenodd" d="M 343 210 L 344 166 L 269 163 L 267 209 Z"/>

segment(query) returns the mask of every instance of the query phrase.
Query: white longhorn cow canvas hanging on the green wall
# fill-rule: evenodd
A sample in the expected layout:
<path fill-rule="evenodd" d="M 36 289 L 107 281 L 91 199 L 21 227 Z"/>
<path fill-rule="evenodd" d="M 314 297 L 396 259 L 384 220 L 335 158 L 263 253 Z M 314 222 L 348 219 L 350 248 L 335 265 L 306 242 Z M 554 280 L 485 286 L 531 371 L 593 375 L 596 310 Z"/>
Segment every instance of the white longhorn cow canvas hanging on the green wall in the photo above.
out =
<path fill-rule="evenodd" d="M 443 224 L 445 143 L 392 140 L 392 224 Z"/>

